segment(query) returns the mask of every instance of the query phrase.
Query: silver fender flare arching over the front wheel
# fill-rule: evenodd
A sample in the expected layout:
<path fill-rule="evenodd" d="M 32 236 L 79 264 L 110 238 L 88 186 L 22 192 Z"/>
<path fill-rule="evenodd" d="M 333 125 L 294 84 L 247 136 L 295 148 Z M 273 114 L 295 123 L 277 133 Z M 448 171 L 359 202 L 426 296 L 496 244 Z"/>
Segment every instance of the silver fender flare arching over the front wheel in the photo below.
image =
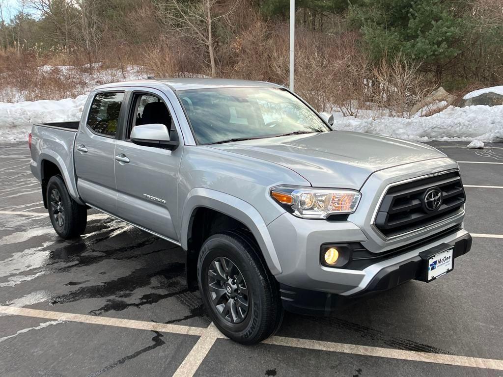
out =
<path fill-rule="evenodd" d="M 196 187 L 189 192 L 182 213 L 181 243 L 185 250 L 188 248 L 189 224 L 194 211 L 198 207 L 206 207 L 221 212 L 246 225 L 255 236 L 271 273 L 273 275 L 281 273 L 278 255 L 269 235 L 267 224 L 260 213 L 249 203 L 215 190 Z"/>

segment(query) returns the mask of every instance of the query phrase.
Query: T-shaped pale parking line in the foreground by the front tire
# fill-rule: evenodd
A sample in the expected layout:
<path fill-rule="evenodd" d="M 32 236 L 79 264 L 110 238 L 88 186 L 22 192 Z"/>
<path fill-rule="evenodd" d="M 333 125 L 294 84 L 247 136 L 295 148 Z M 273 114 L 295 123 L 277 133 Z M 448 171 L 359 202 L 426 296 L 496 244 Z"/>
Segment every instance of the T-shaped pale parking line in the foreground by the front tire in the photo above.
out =
<path fill-rule="evenodd" d="M 218 338 L 225 339 L 225 336 L 218 332 L 213 324 L 208 326 L 208 328 L 203 329 L 200 327 L 192 326 L 172 325 L 111 317 L 98 317 L 73 313 L 51 312 L 47 310 L 18 308 L 11 306 L 0 306 L 0 313 L 25 317 L 48 318 L 52 320 L 81 322 L 95 325 L 117 326 L 139 330 L 153 330 L 167 333 L 200 336 L 201 338 L 198 340 L 191 352 L 189 352 L 185 360 L 182 362 L 182 364 L 180 364 L 178 370 L 175 372 L 175 375 L 177 376 L 189 377 L 194 375 L 197 368 L 199 367 L 199 365 L 201 365 L 201 362 L 210 351 L 215 340 Z M 287 347 L 316 349 L 330 352 L 350 353 L 356 355 L 386 357 L 399 360 L 423 361 L 437 364 L 503 370 L 503 360 L 486 359 L 480 357 L 405 351 L 393 348 L 371 347 L 356 344 L 334 343 L 320 340 L 298 339 L 282 336 L 273 336 L 265 340 L 263 343 Z"/>

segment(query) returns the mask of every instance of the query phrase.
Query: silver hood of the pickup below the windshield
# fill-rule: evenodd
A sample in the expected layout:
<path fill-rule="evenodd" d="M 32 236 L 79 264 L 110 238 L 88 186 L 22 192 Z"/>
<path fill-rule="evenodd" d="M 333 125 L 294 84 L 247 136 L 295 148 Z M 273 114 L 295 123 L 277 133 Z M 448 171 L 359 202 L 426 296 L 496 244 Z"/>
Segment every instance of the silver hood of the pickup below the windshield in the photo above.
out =
<path fill-rule="evenodd" d="M 425 144 L 347 131 L 237 141 L 211 147 L 285 166 L 316 187 L 355 190 L 377 170 L 445 157 Z"/>

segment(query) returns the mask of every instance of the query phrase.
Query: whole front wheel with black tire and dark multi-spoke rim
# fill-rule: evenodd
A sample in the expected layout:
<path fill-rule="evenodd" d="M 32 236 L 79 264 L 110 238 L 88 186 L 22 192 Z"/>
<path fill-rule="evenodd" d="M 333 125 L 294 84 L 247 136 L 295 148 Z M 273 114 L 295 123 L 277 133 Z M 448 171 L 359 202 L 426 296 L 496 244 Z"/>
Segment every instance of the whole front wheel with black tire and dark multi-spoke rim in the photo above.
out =
<path fill-rule="evenodd" d="M 279 287 L 248 232 L 224 231 L 209 237 L 199 253 L 197 274 L 206 310 L 225 336 L 255 344 L 279 329 L 283 320 Z"/>

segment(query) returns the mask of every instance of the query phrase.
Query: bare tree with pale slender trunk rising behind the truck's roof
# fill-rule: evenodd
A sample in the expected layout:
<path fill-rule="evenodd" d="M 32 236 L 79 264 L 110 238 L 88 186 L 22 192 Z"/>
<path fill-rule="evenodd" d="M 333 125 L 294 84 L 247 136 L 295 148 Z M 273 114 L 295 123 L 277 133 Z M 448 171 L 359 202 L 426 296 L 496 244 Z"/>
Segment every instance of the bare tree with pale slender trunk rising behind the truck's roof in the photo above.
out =
<path fill-rule="evenodd" d="M 170 30 L 175 30 L 183 37 L 192 40 L 196 46 L 203 46 L 210 58 L 211 76 L 216 76 L 215 42 L 213 23 L 226 19 L 233 9 L 214 17 L 212 11 L 216 0 L 201 0 L 186 3 L 180 0 L 161 0 L 156 6 L 161 23 Z"/>

